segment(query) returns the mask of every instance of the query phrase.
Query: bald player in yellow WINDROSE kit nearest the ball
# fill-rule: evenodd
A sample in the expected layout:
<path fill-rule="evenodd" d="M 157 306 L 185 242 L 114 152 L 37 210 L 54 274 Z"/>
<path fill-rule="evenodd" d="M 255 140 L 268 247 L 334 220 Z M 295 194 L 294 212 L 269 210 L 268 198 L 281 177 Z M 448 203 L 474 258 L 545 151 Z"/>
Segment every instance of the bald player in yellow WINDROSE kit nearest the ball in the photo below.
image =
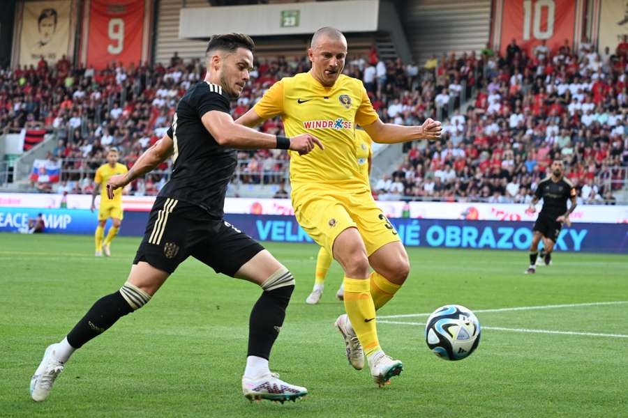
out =
<path fill-rule="evenodd" d="M 383 123 L 362 82 L 341 74 L 347 40 L 338 29 L 316 31 L 308 56 L 309 72 L 276 82 L 237 123 L 254 126 L 281 116 L 286 134 L 314 134 L 324 144 L 324 150 L 308 155 L 290 153 L 294 215 L 342 265 L 347 314 L 338 317 L 335 325 L 345 340 L 350 364 L 362 369 L 366 356 L 373 380 L 382 386 L 401 373 L 403 365 L 382 350 L 375 310 L 401 287 L 410 263 L 397 232 L 360 176 L 355 125 L 373 141 L 387 144 L 438 139 L 442 128 L 430 118 L 421 126 Z"/>

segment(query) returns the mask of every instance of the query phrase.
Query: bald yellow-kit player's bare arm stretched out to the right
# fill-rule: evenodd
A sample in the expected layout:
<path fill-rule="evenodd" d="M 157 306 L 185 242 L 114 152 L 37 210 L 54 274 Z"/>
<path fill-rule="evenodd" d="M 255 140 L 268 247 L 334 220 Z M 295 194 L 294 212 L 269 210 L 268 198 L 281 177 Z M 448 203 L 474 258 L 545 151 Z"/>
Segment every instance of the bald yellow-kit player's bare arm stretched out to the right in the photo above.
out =
<path fill-rule="evenodd" d="M 394 123 L 383 123 L 379 118 L 370 125 L 363 126 L 364 130 L 375 142 L 380 144 L 398 144 L 399 142 L 414 141 L 415 139 L 440 139 L 442 126 L 432 118 L 426 119 L 421 126 L 403 126 Z"/>

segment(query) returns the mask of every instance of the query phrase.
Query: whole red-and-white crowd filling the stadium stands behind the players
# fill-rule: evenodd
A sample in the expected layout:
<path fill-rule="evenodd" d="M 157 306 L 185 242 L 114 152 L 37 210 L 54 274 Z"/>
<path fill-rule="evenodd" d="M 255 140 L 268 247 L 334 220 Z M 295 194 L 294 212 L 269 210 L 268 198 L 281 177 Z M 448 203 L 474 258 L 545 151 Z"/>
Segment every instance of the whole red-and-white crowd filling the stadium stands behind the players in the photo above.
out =
<path fill-rule="evenodd" d="M 581 201 L 611 200 L 611 189 L 595 183 L 622 175 L 606 167 L 628 165 L 627 51 L 623 42 L 614 54 L 597 54 L 585 42 L 578 53 L 567 45 L 555 52 L 540 45 L 528 56 L 513 42 L 507 56 L 487 47 L 481 56 L 433 56 L 424 68 L 382 61 L 374 51 L 350 56 L 345 73 L 364 82 L 383 121 L 416 125 L 428 116 L 444 121 L 443 140 L 405 144 L 405 161 L 373 185 L 374 194 L 529 201 L 548 163 L 561 157 Z M 234 118 L 276 80 L 308 68 L 306 57 L 258 59 L 248 88 L 232 104 Z M 132 167 L 170 126 L 177 100 L 202 77 L 200 59 L 184 63 L 177 54 L 168 65 L 112 64 L 104 70 L 73 67 L 65 56 L 50 65 L 41 59 L 36 67 L 0 70 L 0 128 L 57 130 L 50 156 L 62 160 L 57 188 L 89 193 L 107 149 L 118 148 L 121 162 Z M 476 88 L 474 105 L 461 112 L 462 99 Z M 276 118 L 260 129 L 279 133 L 283 125 Z M 283 150 L 241 151 L 237 181 L 281 183 L 287 160 Z M 157 194 L 168 169 L 163 163 L 135 180 L 132 193 Z"/>

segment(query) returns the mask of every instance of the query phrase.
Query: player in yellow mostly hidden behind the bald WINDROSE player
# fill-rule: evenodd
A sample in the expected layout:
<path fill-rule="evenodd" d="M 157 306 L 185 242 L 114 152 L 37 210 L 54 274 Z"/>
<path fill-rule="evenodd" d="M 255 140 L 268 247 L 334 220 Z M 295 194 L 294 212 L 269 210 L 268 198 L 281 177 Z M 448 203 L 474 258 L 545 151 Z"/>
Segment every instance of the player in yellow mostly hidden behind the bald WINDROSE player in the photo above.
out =
<path fill-rule="evenodd" d="M 366 183 L 369 183 L 368 175 L 371 173 L 371 157 L 373 155 L 371 151 L 371 137 L 361 129 L 355 130 L 355 156 L 357 158 L 357 163 L 360 169 L 360 175 L 364 177 Z M 314 288 L 312 289 L 312 293 L 307 297 L 307 304 L 317 304 L 322 296 L 324 290 L 324 281 L 325 277 L 327 277 L 327 270 L 329 270 L 329 265 L 331 265 L 331 260 L 333 257 L 325 247 L 320 247 L 318 250 L 318 255 L 316 256 L 316 269 L 314 270 Z M 345 296 L 345 288 L 341 283 L 340 288 L 336 292 L 336 297 L 338 300 L 343 300 Z"/>

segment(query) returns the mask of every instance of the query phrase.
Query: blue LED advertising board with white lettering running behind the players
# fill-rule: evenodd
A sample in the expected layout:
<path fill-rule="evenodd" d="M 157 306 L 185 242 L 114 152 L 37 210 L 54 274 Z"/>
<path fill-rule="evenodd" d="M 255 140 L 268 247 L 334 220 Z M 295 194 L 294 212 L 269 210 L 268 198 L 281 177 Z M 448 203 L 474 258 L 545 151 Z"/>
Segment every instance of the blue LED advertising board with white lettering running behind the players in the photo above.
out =
<path fill-rule="evenodd" d="M 28 220 L 43 215 L 46 232 L 91 234 L 96 213 L 79 209 L 0 207 L 0 231 L 17 232 Z M 121 235 L 144 234 L 149 212 L 124 212 Z M 226 215 L 225 220 L 255 240 L 313 242 L 292 216 Z M 519 249 L 530 247 L 532 222 L 468 221 L 440 219 L 390 219 L 408 247 Z M 628 254 L 628 224 L 575 223 L 560 231 L 555 249 Z"/>

